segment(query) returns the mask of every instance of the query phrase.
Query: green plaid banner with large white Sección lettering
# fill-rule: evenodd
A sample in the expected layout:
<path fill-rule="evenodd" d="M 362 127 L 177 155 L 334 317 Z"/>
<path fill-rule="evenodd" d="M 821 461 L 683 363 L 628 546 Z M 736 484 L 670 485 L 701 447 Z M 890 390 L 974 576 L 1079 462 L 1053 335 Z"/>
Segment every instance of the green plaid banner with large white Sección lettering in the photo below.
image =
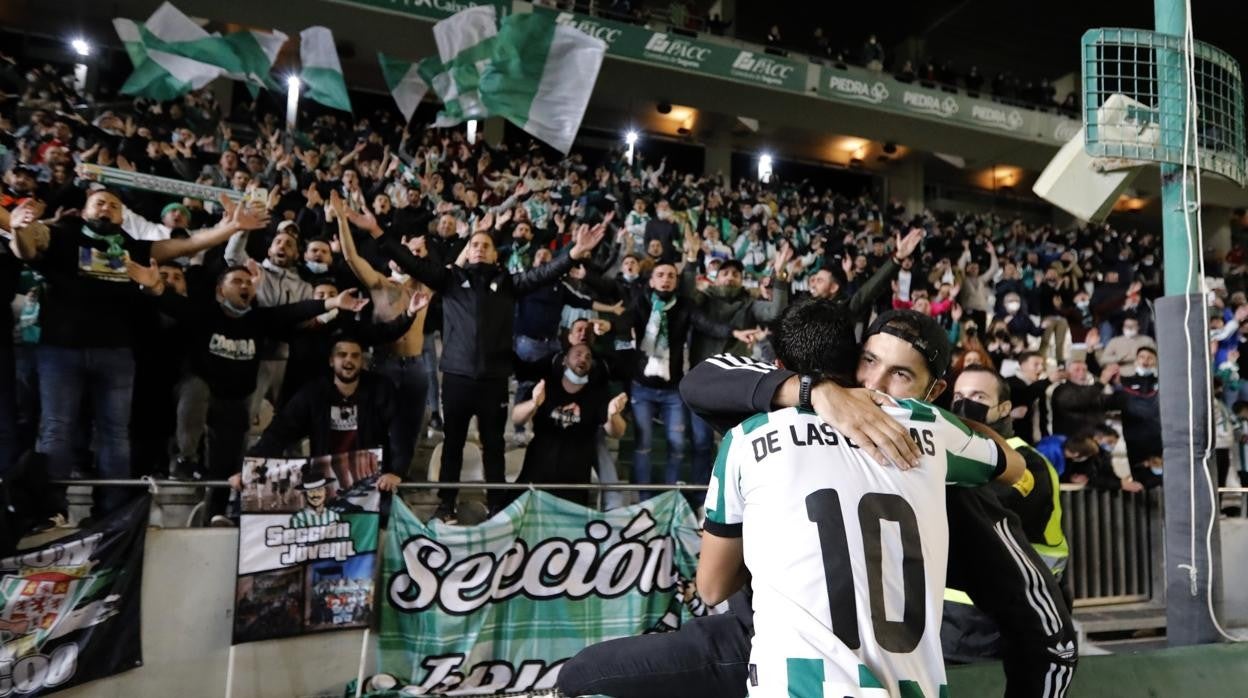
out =
<path fill-rule="evenodd" d="M 698 547 L 678 492 L 599 512 L 530 491 L 472 527 L 421 523 L 394 499 L 381 671 L 416 696 L 550 688 L 584 647 L 703 613 Z"/>

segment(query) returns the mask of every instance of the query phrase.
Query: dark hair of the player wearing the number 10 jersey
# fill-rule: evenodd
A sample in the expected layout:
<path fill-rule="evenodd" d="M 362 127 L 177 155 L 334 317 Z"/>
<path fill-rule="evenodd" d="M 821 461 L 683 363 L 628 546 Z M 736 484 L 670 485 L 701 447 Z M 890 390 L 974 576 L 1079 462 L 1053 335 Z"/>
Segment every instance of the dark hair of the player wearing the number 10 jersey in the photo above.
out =
<path fill-rule="evenodd" d="M 859 357 L 854 325 L 844 303 L 807 298 L 780 313 L 771 343 L 785 368 L 844 381 L 854 376 Z"/>

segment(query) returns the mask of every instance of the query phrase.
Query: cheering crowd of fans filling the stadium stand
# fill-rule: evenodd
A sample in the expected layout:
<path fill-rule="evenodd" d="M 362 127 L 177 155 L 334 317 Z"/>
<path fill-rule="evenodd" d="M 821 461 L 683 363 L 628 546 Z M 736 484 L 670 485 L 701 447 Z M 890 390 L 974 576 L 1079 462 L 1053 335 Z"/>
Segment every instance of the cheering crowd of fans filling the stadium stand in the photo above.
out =
<path fill-rule="evenodd" d="M 906 211 L 641 154 L 470 145 L 388 111 L 287 132 L 200 91 L 84 115 L 55 71 L 32 75 L 0 102 L 6 472 L 227 478 L 247 452 L 381 447 L 388 489 L 437 432 L 441 477 L 457 479 L 475 417 L 492 482 L 510 433 L 529 482 L 705 483 L 714 433 L 680 400 L 684 371 L 769 358 L 768 323 L 814 296 L 864 323 L 936 317 L 951 373 L 1006 376 L 1016 433 L 1065 482 L 1161 482 L 1156 235 Z M 102 186 L 84 164 L 241 201 Z M 1223 478 L 1248 416 L 1244 272 L 1233 253 L 1211 295 Z M 625 432 L 622 473 L 607 437 Z M 60 523 L 64 492 L 27 506 Z M 211 513 L 227 523 L 221 492 Z M 96 488 L 96 512 L 124 497 Z M 443 489 L 438 516 L 454 514 Z"/>

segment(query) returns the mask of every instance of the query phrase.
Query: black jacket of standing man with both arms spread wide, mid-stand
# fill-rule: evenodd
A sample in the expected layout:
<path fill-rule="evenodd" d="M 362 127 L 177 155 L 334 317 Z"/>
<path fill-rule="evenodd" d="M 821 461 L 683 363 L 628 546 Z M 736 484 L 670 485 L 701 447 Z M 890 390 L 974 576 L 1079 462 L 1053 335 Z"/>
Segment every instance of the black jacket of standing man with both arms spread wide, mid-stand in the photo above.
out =
<path fill-rule="evenodd" d="M 515 298 L 554 283 L 575 263 L 568 253 L 520 273 L 498 265 L 442 266 L 393 238 L 382 250 L 442 298 L 442 371 L 466 378 L 512 375 Z"/>

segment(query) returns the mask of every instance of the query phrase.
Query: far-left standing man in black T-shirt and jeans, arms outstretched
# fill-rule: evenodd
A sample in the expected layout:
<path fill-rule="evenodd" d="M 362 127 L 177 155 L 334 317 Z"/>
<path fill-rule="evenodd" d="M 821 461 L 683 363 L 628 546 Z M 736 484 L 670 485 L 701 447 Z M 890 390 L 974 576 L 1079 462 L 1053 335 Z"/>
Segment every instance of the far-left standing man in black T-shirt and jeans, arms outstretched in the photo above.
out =
<path fill-rule="evenodd" d="M 139 286 L 130 282 L 125 260 L 171 260 L 225 242 L 240 230 L 262 227 L 267 220 L 243 206 L 222 201 L 227 216 L 212 230 L 181 240 L 137 241 L 121 229 L 121 199 L 107 190 L 92 192 L 82 217 L 62 217 L 51 227 L 35 222 L 34 206 L 11 216 L 12 251 L 46 278 L 41 303 L 39 388 L 39 452 L 47 457 L 54 479 L 72 471 L 74 445 L 91 433 L 101 477 L 130 476 L 130 405 L 134 393 L 136 323 L 155 322 Z M 82 422 L 82 401 L 91 401 L 94 423 Z M 65 489 L 57 489 L 67 513 Z M 120 507 L 125 493 L 95 492 L 96 514 Z"/>

